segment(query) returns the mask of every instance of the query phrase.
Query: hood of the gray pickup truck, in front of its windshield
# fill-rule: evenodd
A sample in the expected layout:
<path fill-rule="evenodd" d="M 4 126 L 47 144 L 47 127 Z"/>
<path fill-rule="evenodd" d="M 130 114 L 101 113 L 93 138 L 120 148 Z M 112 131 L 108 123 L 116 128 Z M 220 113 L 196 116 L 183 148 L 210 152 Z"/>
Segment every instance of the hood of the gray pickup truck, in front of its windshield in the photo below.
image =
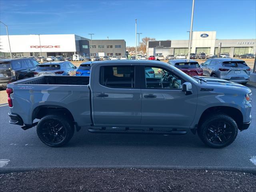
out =
<path fill-rule="evenodd" d="M 202 78 L 203 80 L 206 81 L 206 82 L 202 81 L 201 89 L 206 88 L 206 90 L 207 90 L 210 88 L 213 88 L 213 89 L 214 88 L 222 88 L 223 92 L 228 92 L 228 89 L 236 89 L 237 91 L 241 90 L 246 93 L 251 92 L 251 90 L 248 87 L 243 86 L 238 83 L 231 82 L 231 81 L 223 80 L 220 78 L 205 77 L 205 76 L 196 76 L 196 77 Z"/>

